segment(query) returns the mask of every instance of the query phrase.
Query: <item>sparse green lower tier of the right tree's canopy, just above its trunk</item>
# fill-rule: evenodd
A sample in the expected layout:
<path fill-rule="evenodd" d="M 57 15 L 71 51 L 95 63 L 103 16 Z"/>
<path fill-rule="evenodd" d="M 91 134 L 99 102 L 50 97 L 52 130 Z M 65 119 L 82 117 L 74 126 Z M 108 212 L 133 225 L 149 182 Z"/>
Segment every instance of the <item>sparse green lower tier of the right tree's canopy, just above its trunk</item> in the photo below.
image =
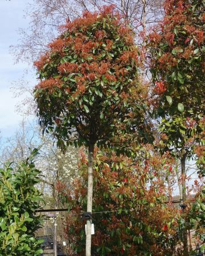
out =
<path fill-rule="evenodd" d="M 187 158 L 194 159 L 195 154 L 196 162 L 200 170 L 203 170 L 204 127 L 204 118 L 201 115 L 186 118 L 179 114 L 161 119 L 159 130 L 163 151 L 172 147 L 173 154 L 180 158 L 181 148 L 185 147 Z"/>

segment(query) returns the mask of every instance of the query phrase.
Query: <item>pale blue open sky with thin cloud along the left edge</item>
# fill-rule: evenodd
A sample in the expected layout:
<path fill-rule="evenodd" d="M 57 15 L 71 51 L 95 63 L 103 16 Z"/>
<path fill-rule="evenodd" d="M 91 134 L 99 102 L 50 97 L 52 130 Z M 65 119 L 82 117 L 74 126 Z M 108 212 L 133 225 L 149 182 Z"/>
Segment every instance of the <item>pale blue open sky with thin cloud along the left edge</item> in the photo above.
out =
<path fill-rule="evenodd" d="M 10 45 L 18 42 L 18 28 L 26 28 L 28 25 L 28 20 L 23 18 L 26 4 L 26 0 L 0 0 L 0 135 L 2 138 L 13 135 L 18 129 L 19 121 L 22 120 L 22 115 L 15 111 L 15 105 L 25 96 L 14 98 L 11 86 L 23 76 L 28 65 L 14 64 Z M 31 69 L 32 72 L 34 71 Z M 30 80 L 31 84 L 35 82 L 31 76 L 28 76 L 27 80 Z"/>

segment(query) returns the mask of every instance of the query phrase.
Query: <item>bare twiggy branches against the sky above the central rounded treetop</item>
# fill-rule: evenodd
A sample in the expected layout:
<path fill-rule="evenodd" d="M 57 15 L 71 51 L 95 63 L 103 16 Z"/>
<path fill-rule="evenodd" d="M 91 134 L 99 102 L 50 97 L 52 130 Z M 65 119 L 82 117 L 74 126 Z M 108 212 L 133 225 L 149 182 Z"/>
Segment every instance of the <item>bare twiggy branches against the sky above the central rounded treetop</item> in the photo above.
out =
<path fill-rule="evenodd" d="M 19 43 L 11 46 L 16 61 L 32 63 L 47 51 L 47 44 L 58 35 L 58 28 L 67 20 L 77 18 L 84 10 L 98 10 L 103 5 L 115 5 L 129 24 L 140 31 L 157 22 L 162 14 L 163 0 L 34 0 L 28 4 L 25 16 L 28 29 L 19 28 Z"/>

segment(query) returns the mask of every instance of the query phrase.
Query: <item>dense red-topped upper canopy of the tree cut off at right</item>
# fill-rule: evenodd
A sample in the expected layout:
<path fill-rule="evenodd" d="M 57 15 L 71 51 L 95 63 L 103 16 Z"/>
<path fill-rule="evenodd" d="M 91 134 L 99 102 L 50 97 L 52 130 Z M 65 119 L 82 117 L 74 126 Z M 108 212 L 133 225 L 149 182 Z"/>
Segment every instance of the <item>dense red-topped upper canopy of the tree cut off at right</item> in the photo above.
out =
<path fill-rule="evenodd" d="M 149 34 L 158 111 L 204 114 L 204 1 L 166 0 L 164 10 L 164 19 Z"/>

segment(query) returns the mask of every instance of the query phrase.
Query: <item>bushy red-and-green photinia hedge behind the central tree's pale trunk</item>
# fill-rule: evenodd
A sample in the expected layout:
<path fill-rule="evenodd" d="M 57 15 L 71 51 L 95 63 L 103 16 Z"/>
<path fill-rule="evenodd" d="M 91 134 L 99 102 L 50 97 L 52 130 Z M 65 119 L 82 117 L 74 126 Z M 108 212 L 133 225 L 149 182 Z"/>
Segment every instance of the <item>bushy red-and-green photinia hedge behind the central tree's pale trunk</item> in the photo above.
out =
<path fill-rule="evenodd" d="M 167 201 L 166 186 L 161 171 L 170 161 L 166 155 L 146 145 L 139 157 L 116 156 L 111 150 L 94 150 L 93 220 L 95 236 L 91 255 L 181 255 L 178 239 L 179 210 Z M 149 153 L 150 152 L 150 153 Z M 152 153 L 151 153 L 152 152 Z M 81 149 L 80 177 L 73 181 L 73 191 L 61 181 L 57 190 L 61 200 L 69 205 L 65 221 L 65 237 L 69 255 L 85 255 L 83 244 L 86 208 L 87 158 Z M 153 185 L 149 186 L 150 173 Z"/>

